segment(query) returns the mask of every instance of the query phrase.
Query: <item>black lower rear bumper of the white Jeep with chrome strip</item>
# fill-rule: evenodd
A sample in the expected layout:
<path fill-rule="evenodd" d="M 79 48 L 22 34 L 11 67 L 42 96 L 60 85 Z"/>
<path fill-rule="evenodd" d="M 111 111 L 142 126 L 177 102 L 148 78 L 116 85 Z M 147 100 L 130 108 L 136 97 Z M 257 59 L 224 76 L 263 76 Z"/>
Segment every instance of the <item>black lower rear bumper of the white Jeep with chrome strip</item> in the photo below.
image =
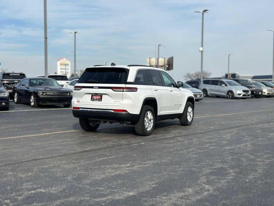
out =
<path fill-rule="evenodd" d="M 116 121 L 116 122 L 133 122 L 139 120 L 139 114 L 131 114 L 129 112 L 113 112 L 112 110 L 100 110 L 90 108 L 80 108 L 80 110 L 72 110 L 72 114 L 76 118 Z"/>

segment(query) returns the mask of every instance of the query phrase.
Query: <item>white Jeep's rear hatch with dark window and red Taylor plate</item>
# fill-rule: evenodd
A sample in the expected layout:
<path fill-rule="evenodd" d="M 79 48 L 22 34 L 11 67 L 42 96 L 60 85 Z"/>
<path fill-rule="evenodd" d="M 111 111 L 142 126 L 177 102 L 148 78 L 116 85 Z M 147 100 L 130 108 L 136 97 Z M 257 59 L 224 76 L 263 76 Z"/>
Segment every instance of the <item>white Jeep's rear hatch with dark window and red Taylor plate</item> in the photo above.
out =
<path fill-rule="evenodd" d="M 76 104 L 119 106 L 127 75 L 125 68 L 87 68 L 74 86 Z"/>

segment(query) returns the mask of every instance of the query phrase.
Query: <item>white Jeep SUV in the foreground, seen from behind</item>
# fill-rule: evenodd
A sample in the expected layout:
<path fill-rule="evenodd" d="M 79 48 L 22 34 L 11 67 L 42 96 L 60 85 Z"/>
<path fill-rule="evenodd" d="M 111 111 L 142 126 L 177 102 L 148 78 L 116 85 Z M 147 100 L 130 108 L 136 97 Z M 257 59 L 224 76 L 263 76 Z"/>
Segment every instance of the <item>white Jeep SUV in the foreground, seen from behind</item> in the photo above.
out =
<path fill-rule="evenodd" d="M 86 68 L 74 86 L 72 112 L 85 131 L 119 122 L 148 136 L 156 121 L 179 118 L 191 125 L 194 104 L 192 92 L 163 69 L 112 63 Z"/>

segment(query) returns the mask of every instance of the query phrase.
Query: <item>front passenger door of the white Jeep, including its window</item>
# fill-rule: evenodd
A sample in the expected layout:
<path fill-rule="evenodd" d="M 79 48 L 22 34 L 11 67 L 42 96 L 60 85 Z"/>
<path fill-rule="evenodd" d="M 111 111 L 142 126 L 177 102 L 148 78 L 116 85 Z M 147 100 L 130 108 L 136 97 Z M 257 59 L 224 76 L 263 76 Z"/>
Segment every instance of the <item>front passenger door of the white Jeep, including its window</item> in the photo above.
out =
<path fill-rule="evenodd" d="M 168 73 L 160 71 L 160 74 L 164 81 L 164 86 L 169 92 L 169 114 L 181 113 L 184 102 L 184 91 L 177 88 L 175 81 L 169 76 Z"/>

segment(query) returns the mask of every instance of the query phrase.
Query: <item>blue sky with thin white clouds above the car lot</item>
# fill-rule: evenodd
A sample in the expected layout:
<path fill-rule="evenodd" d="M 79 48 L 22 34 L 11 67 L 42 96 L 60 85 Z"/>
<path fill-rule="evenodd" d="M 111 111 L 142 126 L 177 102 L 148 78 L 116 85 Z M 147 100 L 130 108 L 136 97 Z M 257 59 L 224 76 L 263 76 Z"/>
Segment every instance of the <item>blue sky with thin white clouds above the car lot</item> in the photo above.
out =
<path fill-rule="evenodd" d="M 9 71 L 28 76 L 44 72 L 42 0 L 0 0 L 0 62 Z M 201 14 L 205 14 L 204 69 L 212 76 L 227 72 L 226 53 L 233 53 L 230 71 L 272 73 L 274 1 L 89 1 L 48 0 L 49 72 L 57 59 L 73 65 L 73 34 L 77 35 L 77 69 L 105 61 L 145 64 L 154 57 L 174 56 L 175 80 L 200 70 Z M 72 68 L 73 69 L 73 68 Z"/>

